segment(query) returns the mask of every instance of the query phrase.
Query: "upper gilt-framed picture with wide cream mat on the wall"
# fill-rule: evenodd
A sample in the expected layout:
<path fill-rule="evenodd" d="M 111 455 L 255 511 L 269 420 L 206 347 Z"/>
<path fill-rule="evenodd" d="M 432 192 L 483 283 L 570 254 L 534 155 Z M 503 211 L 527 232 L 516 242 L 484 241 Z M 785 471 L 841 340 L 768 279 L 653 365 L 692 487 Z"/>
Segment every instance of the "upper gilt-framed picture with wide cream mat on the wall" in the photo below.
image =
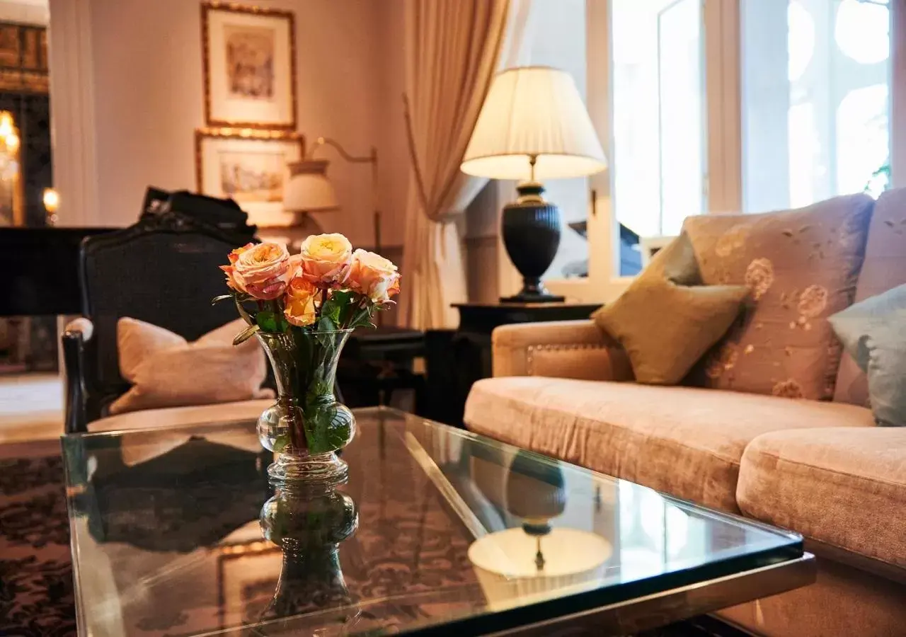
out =
<path fill-rule="evenodd" d="M 207 126 L 294 130 L 292 12 L 201 5 Z"/>

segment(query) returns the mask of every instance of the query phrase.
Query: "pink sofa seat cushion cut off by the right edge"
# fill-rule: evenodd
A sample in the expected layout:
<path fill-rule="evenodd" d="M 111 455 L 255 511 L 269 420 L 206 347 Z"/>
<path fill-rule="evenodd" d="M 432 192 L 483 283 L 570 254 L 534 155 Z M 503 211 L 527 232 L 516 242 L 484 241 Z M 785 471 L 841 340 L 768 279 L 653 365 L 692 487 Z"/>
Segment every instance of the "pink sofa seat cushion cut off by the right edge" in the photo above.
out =
<path fill-rule="evenodd" d="M 766 433 L 743 454 L 737 500 L 747 516 L 906 568 L 906 429 Z"/>

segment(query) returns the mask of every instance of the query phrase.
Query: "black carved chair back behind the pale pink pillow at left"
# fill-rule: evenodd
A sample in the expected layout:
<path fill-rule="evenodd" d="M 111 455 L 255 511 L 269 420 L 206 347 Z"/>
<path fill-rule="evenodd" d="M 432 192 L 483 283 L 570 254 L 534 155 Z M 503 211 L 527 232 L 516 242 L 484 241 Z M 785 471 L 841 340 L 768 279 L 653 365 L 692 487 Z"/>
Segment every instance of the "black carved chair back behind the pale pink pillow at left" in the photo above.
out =
<path fill-rule="evenodd" d="M 117 353 L 121 317 L 159 325 L 188 341 L 236 319 L 231 304 L 210 301 L 226 293 L 217 266 L 248 238 L 168 213 L 82 242 L 82 314 L 94 323 L 85 348 L 89 420 L 101 417 L 103 406 L 128 389 Z"/>

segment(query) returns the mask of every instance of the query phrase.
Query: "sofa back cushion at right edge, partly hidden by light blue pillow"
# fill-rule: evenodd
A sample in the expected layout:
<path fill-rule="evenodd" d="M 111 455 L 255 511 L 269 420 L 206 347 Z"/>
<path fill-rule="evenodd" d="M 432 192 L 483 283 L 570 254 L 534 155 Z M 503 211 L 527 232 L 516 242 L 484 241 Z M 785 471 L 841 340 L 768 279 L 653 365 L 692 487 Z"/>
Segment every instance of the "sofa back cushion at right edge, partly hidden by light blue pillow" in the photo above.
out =
<path fill-rule="evenodd" d="M 855 288 L 856 302 L 906 284 L 906 188 L 878 198 L 868 227 L 865 263 Z M 843 353 L 834 401 L 868 405 L 868 381 L 859 365 Z"/>

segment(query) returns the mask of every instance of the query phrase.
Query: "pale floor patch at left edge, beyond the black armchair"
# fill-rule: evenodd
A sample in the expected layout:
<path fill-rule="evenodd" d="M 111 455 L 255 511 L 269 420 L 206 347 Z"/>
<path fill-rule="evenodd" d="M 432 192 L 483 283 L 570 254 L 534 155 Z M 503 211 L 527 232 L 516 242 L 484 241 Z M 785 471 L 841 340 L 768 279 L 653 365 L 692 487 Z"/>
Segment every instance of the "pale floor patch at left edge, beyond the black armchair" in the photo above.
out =
<path fill-rule="evenodd" d="M 58 375 L 0 375 L 0 444 L 62 434 L 63 380 Z"/>

